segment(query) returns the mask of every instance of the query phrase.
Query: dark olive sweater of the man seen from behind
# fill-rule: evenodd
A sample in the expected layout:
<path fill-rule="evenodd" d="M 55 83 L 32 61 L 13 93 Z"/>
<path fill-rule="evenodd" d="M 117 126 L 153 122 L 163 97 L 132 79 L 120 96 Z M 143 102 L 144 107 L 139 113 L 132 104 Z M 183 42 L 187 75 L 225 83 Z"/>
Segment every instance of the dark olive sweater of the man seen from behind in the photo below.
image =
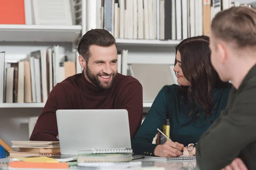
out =
<path fill-rule="evenodd" d="M 236 90 L 227 107 L 196 146 L 201 170 L 220 170 L 240 157 L 249 170 L 256 170 L 256 65 Z"/>

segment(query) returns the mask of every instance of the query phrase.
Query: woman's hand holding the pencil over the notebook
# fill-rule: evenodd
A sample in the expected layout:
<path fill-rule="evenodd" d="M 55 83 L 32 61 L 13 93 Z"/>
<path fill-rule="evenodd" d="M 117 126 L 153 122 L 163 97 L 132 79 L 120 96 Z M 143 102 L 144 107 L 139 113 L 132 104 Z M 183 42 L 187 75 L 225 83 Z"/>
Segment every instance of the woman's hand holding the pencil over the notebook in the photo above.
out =
<path fill-rule="evenodd" d="M 164 144 L 159 144 L 154 150 L 155 156 L 160 157 L 177 157 L 183 155 L 183 144 L 178 142 L 166 141 Z"/>

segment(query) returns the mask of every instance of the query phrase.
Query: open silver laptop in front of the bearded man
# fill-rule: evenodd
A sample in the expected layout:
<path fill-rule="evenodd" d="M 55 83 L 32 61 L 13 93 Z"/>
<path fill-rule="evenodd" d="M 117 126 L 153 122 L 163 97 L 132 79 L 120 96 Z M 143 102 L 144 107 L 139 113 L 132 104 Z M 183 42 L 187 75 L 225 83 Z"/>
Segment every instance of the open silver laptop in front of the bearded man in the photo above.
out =
<path fill-rule="evenodd" d="M 128 111 L 57 110 L 61 155 L 93 148 L 131 148 Z"/>

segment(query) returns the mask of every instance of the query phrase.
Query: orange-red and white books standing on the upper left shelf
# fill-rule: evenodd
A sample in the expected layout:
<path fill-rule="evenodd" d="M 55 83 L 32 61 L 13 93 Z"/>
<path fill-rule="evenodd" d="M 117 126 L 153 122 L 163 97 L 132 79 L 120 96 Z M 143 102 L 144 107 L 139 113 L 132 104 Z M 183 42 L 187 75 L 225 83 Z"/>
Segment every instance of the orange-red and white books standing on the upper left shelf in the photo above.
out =
<path fill-rule="evenodd" d="M 0 24 L 81 24 L 81 0 L 2 0 Z"/>

